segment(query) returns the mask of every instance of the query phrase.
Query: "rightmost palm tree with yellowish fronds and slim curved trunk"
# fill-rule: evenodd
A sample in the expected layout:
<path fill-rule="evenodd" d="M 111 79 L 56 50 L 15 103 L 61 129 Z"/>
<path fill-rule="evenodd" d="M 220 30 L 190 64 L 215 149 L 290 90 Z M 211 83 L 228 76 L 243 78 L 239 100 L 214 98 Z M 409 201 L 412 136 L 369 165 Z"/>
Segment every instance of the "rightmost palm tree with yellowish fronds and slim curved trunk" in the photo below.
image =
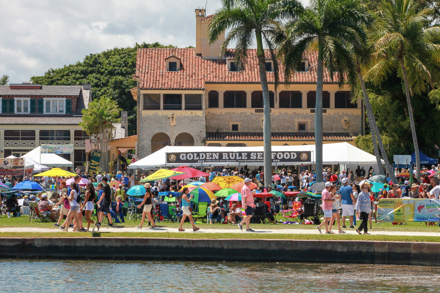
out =
<path fill-rule="evenodd" d="M 439 80 L 440 27 L 430 27 L 432 15 L 432 9 L 418 9 L 413 0 L 382 0 L 373 14 L 374 65 L 365 76 L 380 83 L 397 70 L 403 77 L 418 179 L 420 154 L 411 96 L 424 92 L 426 82 L 433 86 Z"/>

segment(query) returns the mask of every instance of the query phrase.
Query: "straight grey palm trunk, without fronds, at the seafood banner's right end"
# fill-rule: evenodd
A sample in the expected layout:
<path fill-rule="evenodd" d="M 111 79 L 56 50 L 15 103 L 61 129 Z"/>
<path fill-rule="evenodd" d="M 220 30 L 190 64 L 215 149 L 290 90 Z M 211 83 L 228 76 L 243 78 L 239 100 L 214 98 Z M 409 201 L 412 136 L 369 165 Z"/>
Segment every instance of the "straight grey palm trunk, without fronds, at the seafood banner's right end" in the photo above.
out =
<path fill-rule="evenodd" d="M 323 45 L 319 43 L 318 67 L 316 68 L 316 104 L 315 104 L 315 166 L 316 182 L 323 181 L 323 83 L 324 57 Z"/>

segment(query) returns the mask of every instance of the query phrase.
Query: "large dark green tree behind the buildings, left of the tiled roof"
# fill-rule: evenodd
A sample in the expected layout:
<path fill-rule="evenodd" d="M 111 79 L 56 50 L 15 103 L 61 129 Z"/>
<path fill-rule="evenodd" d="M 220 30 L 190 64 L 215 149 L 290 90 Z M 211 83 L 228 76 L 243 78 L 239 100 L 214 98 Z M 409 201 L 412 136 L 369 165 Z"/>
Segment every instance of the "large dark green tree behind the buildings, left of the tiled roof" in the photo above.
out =
<path fill-rule="evenodd" d="M 128 112 L 128 135 L 136 134 L 136 101 L 130 89 L 136 87 L 132 75 L 136 72 L 138 48 L 173 48 L 161 43 L 136 43 L 134 47 L 113 48 L 87 55 L 83 61 L 49 69 L 44 76 L 32 76 L 33 83 L 42 85 L 92 84 L 92 98 L 107 97 Z"/>

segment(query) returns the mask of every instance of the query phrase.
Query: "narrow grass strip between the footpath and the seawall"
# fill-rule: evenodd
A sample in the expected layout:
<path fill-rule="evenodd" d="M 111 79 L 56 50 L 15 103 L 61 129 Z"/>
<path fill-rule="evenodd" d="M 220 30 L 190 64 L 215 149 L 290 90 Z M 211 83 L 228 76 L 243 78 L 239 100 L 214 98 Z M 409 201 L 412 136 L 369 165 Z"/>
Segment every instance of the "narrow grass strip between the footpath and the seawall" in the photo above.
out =
<path fill-rule="evenodd" d="M 396 235 L 319 235 L 319 234 L 262 234 L 262 233 L 176 233 L 176 232 L 0 232 L 0 237 L 48 238 L 48 237 L 148 237 L 179 239 L 292 239 L 292 240 L 370 240 L 403 242 L 440 242 L 438 236 L 396 236 Z"/>

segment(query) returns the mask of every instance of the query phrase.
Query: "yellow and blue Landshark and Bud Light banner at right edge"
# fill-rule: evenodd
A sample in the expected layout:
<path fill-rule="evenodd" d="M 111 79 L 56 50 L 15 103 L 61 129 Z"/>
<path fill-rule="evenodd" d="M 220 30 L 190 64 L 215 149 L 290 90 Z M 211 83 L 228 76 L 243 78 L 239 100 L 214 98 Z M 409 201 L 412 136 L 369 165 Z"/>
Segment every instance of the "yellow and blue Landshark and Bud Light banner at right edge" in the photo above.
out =
<path fill-rule="evenodd" d="M 379 199 L 378 222 L 438 222 L 439 199 Z"/>

